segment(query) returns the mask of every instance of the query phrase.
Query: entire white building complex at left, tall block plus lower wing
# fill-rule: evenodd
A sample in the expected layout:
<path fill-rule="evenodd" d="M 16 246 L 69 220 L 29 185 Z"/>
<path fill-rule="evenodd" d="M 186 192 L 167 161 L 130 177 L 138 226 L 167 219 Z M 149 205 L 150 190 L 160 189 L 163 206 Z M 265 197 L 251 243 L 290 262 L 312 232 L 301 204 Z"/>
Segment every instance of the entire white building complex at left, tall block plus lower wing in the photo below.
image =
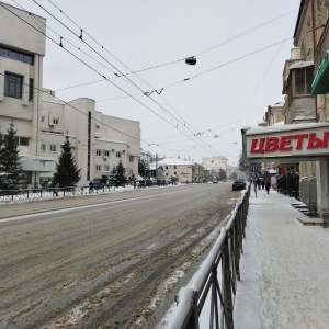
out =
<path fill-rule="evenodd" d="M 91 99 L 64 103 L 43 89 L 46 20 L 0 4 L 0 128 L 5 135 L 9 124 L 15 125 L 30 183 L 53 177 L 66 135 L 81 168 L 79 183 L 109 175 L 120 161 L 127 177 L 137 175 L 139 123 L 104 115 Z"/>

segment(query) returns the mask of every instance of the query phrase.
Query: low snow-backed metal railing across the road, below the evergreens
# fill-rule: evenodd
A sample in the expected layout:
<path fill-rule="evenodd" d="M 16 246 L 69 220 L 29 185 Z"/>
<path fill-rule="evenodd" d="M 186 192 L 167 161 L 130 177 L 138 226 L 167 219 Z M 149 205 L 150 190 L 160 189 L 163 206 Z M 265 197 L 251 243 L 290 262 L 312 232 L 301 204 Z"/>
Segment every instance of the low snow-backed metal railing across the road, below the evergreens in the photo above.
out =
<path fill-rule="evenodd" d="M 55 198 L 76 195 L 100 194 L 114 192 L 115 186 L 71 186 L 71 188 L 46 188 L 46 189 L 21 189 L 21 190 L 0 190 L 0 203 L 23 202 L 39 198 Z"/>

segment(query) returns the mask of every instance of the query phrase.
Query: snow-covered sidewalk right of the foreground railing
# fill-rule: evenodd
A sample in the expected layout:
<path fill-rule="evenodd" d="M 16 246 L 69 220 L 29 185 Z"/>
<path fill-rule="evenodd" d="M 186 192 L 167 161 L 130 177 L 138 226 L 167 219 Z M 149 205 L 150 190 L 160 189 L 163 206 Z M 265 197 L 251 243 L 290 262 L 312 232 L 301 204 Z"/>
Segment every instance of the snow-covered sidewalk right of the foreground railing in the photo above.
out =
<path fill-rule="evenodd" d="M 329 228 L 304 226 L 295 200 L 271 190 L 250 195 L 237 329 L 329 328 Z"/>

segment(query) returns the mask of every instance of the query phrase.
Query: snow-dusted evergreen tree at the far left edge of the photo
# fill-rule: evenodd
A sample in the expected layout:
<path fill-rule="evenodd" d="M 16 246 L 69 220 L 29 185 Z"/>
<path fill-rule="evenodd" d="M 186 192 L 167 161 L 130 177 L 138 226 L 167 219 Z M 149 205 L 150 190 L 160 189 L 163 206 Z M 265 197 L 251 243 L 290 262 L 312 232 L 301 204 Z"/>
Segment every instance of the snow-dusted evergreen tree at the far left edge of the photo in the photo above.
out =
<path fill-rule="evenodd" d="M 0 189 L 2 190 L 18 190 L 26 182 L 21 166 L 16 137 L 18 131 L 14 129 L 14 126 L 13 122 L 11 122 L 4 138 L 0 134 Z"/>

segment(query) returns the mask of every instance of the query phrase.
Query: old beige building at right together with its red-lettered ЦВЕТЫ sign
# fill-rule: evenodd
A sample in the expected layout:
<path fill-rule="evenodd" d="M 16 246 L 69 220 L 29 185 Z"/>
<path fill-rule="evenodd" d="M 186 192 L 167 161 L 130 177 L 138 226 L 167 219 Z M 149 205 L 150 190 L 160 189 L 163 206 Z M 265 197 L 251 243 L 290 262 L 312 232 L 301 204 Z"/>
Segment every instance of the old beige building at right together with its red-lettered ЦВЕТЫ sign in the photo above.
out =
<path fill-rule="evenodd" d="M 284 125 L 242 129 L 252 163 L 272 163 L 286 191 L 315 207 L 329 209 L 329 0 L 302 0 L 291 58 L 284 64 Z"/>

